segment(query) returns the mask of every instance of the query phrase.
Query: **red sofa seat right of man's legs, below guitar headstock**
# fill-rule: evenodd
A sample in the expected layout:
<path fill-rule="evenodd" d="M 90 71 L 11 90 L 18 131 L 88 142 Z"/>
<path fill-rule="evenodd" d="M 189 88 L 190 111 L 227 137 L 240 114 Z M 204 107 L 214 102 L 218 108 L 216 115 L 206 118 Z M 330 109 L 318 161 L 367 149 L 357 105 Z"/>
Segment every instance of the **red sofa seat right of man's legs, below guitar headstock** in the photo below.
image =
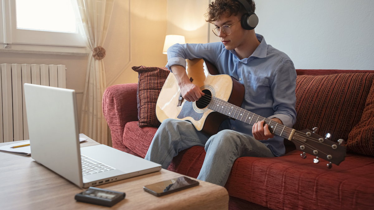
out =
<path fill-rule="evenodd" d="M 225 187 L 230 196 L 270 209 L 371 209 L 374 157 L 348 154 L 339 166 L 313 163 L 300 151 L 282 157 L 241 157 Z M 360 208 L 358 208 L 360 207 Z"/>

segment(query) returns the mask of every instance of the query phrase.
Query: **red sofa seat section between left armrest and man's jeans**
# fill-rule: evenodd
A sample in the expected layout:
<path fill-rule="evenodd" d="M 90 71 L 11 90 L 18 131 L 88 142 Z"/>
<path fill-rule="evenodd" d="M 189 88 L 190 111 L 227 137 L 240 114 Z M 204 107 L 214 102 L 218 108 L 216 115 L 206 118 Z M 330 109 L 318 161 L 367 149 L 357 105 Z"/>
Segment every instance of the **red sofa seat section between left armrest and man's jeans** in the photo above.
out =
<path fill-rule="evenodd" d="M 123 131 L 123 145 L 144 158 L 156 131 L 155 127 L 139 127 L 138 121 L 128 122 Z"/>

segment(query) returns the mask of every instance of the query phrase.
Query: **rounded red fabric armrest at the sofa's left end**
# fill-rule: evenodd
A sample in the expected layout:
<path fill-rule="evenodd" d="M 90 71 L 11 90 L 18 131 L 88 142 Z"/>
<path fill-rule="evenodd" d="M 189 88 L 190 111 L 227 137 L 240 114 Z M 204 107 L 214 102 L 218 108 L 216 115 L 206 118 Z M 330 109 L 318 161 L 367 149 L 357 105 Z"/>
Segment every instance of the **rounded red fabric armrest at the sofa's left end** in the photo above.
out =
<path fill-rule="evenodd" d="M 110 128 L 113 148 L 124 151 L 122 143 L 125 124 L 138 121 L 137 83 L 108 87 L 102 97 L 102 112 Z"/>

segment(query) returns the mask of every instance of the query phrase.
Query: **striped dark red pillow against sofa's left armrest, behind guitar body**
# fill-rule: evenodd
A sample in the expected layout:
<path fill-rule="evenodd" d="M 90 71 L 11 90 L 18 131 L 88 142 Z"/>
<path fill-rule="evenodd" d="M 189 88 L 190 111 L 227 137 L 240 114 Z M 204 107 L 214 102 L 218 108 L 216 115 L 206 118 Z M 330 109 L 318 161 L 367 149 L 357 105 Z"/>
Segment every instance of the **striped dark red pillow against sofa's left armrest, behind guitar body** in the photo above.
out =
<path fill-rule="evenodd" d="M 138 76 L 138 125 L 139 127 L 159 127 L 160 121 L 156 117 L 156 102 L 161 88 L 169 75 L 165 67 L 132 67 Z"/>

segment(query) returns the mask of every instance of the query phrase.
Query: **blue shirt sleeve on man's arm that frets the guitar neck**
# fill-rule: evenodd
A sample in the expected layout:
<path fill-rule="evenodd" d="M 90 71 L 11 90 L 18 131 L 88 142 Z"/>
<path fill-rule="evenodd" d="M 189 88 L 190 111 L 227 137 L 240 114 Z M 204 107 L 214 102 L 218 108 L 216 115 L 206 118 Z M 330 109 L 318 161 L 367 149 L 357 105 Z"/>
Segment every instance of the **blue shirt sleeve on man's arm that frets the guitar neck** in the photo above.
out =
<path fill-rule="evenodd" d="M 292 127 L 296 122 L 296 70 L 292 61 L 285 61 L 276 69 L 271 86 L 274 114 L 283 125 Z"/>

